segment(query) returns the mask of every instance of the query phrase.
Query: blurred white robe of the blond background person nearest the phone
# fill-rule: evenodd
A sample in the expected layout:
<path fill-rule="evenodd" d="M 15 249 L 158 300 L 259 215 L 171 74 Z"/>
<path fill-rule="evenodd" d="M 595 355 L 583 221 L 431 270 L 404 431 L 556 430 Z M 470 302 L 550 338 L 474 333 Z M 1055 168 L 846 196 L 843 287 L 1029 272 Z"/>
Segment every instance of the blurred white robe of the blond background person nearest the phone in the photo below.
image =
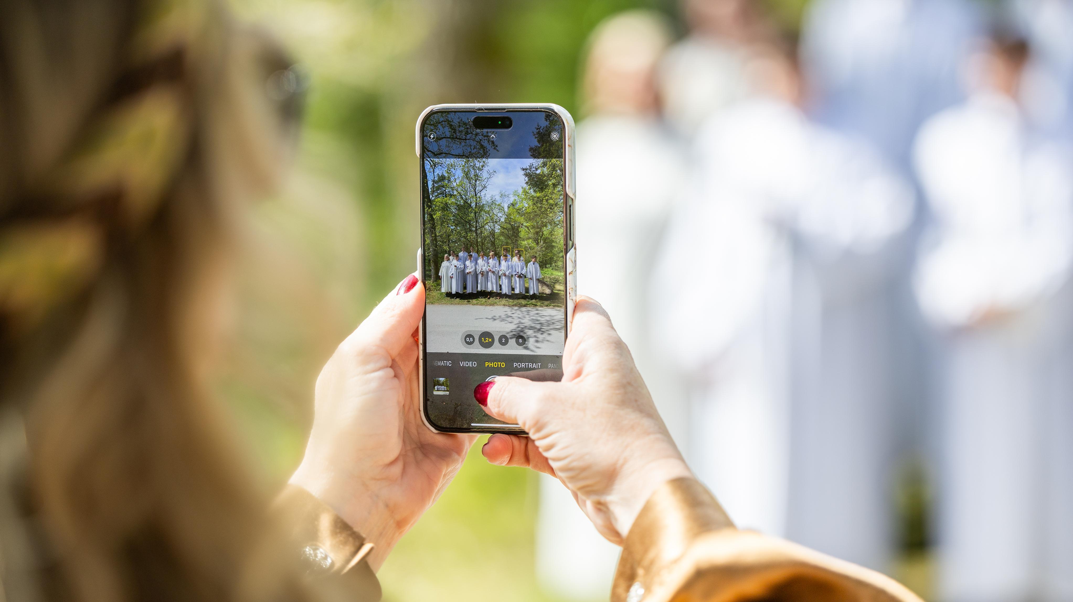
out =
<path fill-rule="evenodd" d="M 688 416 L 680 378 L 673 362 L 652 349 L 648 328 L 648 289 L 685 286 L 653 270 L 685 177 L 682 164 L 680 150 L 656 119 L 593 117 L 577 126 L 578 292 L 611 315 L 663 421 L 685 449 Z M 536 566 L 544 588 L 573 600 L 606 598 L 618 554 L 561 483 L 541 480 Z"/>

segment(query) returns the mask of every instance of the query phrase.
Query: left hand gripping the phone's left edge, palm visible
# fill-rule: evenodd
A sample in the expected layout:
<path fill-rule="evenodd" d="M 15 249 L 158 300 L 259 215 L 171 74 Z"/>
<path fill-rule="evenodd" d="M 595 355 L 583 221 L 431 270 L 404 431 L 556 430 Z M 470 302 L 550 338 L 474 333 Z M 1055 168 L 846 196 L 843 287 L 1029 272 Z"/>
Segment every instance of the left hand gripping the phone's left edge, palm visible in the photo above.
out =
<path fill-rule="evenodd" d="M 416 329 L 425 289 L 407 276 L 317 378 L 313 428 L 291 483 L 332 507 L 376 547 L 373 570 L 440 496 L 475 435 L 421 420 Z"/>

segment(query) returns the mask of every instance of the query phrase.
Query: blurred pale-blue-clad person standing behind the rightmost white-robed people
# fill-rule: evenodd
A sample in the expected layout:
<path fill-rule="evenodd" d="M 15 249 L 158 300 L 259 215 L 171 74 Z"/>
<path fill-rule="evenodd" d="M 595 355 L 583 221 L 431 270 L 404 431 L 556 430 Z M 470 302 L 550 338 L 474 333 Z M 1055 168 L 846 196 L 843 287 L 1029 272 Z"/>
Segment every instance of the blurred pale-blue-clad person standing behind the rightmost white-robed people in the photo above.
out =
<path fill-rule="evenodd" d="M 927 206 L 911 167 L 912 141 L 921 123 L 964 97 L 960 65 L 982 31 L 983 3 L 973 0 L 813 0 L 802 22 L 802 62 L 808 80 L 806 106 L 821 123 L 871 142 L 885 161 L 917 189 L 916 217 L 900 257 L 892 258 L 873 297 L 885 336 L 871 343 L 887 357 L 884 404 L 899 469 L 884 471 L 891 491 L 914 487 L 926 496 L 935 463 L 936 342 L 913 298 L 915 238 L 927 223 Z M 891 503 L 892 509 L 894 503 Z M 899 517 L 927 524 L 922 500 L 902 503 Z M 907 533 L 908 537 L 908 533 Z M 912 538 L 925 545 L 926 527 Z M 908 541 L 908 540 L 907 540 Z M 874 540 L 868 545 L 876 550 Z M 863 552 L 862 552 L 863 553 Z M 854 555 L 874 566 L 874 553 Z"/>

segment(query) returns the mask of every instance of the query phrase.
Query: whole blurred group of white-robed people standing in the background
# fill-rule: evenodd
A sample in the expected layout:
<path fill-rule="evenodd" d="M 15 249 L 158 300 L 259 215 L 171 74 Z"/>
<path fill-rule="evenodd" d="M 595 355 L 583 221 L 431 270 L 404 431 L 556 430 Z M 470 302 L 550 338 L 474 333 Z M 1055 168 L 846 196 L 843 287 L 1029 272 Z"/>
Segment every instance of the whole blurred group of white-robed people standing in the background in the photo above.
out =
<path fill-rule="evenodd" d="M 799 55 L 759 5 L 593 33 L 579 292 L 738 526 L 893 570 L 915 462 L 938 598 L 1073 600 L 1073 0 L 813 0 Z M 592 595 L 544 484 L 539 574 Z"/>

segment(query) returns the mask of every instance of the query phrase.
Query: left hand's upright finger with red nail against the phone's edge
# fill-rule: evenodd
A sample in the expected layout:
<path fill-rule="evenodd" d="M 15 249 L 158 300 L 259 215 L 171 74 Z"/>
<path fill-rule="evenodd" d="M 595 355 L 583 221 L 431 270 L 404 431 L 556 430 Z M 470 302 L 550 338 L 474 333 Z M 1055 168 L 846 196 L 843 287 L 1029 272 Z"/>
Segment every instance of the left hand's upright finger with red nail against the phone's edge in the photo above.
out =
<path fill-rule="evenodd" d="M 410 274 L 380 302 L 347 342 L 359 347 L 378 345 L 393 357 L 413 346 L 413 331 L 425 312 L 425 288 Z"/>

